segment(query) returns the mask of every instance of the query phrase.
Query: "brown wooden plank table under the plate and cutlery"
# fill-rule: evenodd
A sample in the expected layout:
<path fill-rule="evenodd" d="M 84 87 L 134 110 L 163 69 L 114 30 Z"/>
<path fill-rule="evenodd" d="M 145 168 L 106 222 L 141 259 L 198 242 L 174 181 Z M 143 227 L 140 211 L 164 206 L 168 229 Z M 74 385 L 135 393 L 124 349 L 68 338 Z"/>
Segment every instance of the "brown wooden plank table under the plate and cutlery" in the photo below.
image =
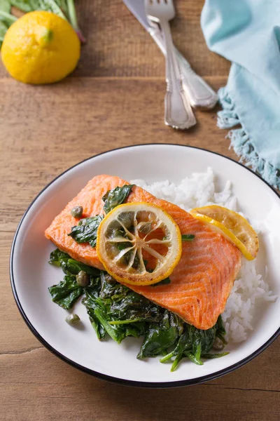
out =
<path fill-rule="evenodd" d="M 163 121 L 165 63 L 121 0 L 80 0 L 87 36 L 76 71 L 53 86 L 24 86 L 0 67 L 0 419 L 183 421 L 280 419 L 279 340 L 251 363 L 204 385 L 134 389 L 97 380 L 50 354 L 13 300 L 8 258 L 22 213 L 55 176 L 89 156 L 126 145 L 171 142 L 236 159 L 216 113 L 196 112 L 181 133 Z M 230 65 L 207 50 L 202 0 L 176 1 L 176 44 L 219 88 Z"/>

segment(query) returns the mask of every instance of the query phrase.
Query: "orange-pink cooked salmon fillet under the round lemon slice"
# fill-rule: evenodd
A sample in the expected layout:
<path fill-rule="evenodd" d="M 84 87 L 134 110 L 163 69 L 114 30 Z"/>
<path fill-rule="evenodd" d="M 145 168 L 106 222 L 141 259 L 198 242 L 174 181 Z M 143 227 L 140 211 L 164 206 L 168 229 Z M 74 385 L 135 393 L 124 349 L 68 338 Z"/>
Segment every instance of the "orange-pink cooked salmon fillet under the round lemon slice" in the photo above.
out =
<path fill-rule="evenodd" d="M 71 208 L 83 206 L 83 218 L 104 214 L 102 196 L 115 187 L 129 184 L 111 175 L 97 175 L 52 221 L 45 236 L 62 251 L 86 265 L 104 269 L 97 251 L 89 243 L 79 244 L 69 236 L 77 225 Z M 209 329 L 225 309 L 233 282 L 241 266 L 241 253 L 236 246 L 204 222 L 197 220 L 179 206 L 155 198 L 141 187 L 134 186 L 127 202 L 150 202 L 163 208 L 174 218 L 182 234 L 195 234 L 194 241 L 183 242 L 179 264 L 169 276 L 171 283 L 159 286 L 129 288 L 148 300 L 178 314 L 199 329 Z"/>

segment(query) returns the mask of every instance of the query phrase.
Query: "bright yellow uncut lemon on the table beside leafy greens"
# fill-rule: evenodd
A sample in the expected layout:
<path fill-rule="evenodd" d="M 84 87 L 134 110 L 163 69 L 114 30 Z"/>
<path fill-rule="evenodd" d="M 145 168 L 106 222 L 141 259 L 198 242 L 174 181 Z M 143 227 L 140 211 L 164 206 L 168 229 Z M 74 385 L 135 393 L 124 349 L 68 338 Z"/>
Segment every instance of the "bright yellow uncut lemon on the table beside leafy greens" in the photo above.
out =
<path fill-rule="evenodd" d="M 54 13 L 26 13 L 10 26 L 1 48 L 3 64 L 18 81 L 54 83 L 73 72 L 80 41 L 69 22 Z"/>

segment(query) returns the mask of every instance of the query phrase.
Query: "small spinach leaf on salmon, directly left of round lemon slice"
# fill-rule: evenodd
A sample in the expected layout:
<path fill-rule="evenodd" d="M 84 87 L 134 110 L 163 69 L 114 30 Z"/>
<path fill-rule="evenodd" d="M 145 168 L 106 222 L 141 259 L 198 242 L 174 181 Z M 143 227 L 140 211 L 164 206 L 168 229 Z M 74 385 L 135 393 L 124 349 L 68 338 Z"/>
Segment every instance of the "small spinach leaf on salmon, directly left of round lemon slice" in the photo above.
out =
<path fill-rule="evenodd" d="M 90 246 L 95 247 L 97 242 L 97 229 L 102 221 L 103 216 L 97 215 L 92 218 L 83 218 L 78 222 L 78 225 L 72 227 L 68 234 L 77 243 L 90 243 Z"/>

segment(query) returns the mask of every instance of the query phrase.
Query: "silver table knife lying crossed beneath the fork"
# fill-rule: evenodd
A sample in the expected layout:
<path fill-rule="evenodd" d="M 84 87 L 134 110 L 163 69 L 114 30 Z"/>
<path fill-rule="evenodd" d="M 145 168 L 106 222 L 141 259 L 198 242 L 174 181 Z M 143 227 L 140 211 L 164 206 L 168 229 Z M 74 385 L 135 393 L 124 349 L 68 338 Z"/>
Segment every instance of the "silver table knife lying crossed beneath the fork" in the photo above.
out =
<path fill-rule="evenodd" d="M 123 0 L 131 13 L 139 20 L 141 25 L 149 32 L 160 50 L 165 54 L 165 41 L 160 27 L 155 22 L 149 22 L 145 11 L 145 0 Z M 211 109 L 218 101 L 218 95 L 202 77 L 198 76 L 190 67 L 190 63 L 175 48 L 179 60 L 179 68 L 183 82 L 183 89 L 194 108 Z"/>

